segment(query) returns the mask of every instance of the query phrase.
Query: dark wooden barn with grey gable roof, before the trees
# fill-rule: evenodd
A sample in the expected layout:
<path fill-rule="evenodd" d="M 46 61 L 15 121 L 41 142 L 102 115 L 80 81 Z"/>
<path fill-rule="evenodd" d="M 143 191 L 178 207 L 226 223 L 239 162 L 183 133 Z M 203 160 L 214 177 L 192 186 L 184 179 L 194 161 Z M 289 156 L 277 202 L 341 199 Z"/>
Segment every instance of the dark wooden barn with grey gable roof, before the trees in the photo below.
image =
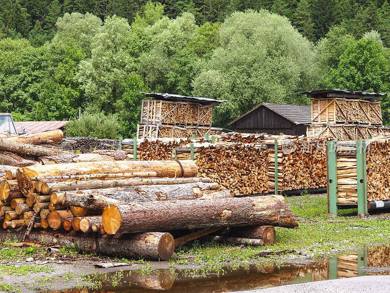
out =
<path fill-rule="evenodd" d="M 305 135 L 311 119 L 311 106 L 262 103 L 229 125 L 236 132 Z"/>

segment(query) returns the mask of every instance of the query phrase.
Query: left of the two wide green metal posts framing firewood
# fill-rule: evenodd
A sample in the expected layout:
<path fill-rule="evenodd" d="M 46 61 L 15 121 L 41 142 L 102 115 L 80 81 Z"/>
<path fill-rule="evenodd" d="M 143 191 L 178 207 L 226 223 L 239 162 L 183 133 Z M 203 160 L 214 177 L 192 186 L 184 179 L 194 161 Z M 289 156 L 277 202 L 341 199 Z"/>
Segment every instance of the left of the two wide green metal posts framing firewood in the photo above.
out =
<path fill-rule="evenodd" d="M 329 141 L 327 144 L 327 193 L 328 213 L 337 215 L 337 155 L 336 142 Z"/>

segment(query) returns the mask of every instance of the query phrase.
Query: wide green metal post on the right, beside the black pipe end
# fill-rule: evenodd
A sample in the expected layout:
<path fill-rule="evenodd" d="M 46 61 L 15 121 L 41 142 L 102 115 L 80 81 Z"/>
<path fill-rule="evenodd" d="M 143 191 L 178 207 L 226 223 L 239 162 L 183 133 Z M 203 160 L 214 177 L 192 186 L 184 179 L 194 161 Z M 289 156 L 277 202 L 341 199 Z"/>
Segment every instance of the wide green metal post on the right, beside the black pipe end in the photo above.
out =
<path fill-rule="evenodd" d="M 367 167 L 366 167 L 366 141 L 356 141 L 357 166 L 357 216 L 365 218 L 367 212 Z"/>

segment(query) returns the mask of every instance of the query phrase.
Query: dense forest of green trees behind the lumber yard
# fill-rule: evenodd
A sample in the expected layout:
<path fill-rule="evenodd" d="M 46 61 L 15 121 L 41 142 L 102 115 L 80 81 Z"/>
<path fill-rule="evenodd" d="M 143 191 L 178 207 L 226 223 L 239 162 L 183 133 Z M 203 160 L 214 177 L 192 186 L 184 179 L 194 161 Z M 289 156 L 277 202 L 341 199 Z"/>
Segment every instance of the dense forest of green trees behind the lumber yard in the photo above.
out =
<path fill-rule="evenodd" d="M 139 91 L 228 100 L 222 127 L 262 102 L 308 104 L 303 90 L 388 92 L 389 61 L 388 0 L 0 0 L 0 112 L 81 107 L 80 134 L 131 137 Z M 389 123 L 388 97 L 382 110 Z"/>

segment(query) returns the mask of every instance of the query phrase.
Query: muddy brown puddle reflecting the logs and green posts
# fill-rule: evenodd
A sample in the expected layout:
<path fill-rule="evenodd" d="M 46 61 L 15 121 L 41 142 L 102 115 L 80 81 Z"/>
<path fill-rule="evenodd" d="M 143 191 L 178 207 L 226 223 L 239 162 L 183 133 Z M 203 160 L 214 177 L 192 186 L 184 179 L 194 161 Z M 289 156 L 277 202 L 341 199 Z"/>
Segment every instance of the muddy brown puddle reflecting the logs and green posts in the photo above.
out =
<path fill-rule="evenodd" d="M 222 293 L 262 289 L 320 280 L 390 274 L 390 246 L 362 249 L 319 261 L 281 266 L 254 266 L 220 273 L 194 270 L 121 271 L 91 275 L 95 288 L 72 288 L 45 293 Z"/>

